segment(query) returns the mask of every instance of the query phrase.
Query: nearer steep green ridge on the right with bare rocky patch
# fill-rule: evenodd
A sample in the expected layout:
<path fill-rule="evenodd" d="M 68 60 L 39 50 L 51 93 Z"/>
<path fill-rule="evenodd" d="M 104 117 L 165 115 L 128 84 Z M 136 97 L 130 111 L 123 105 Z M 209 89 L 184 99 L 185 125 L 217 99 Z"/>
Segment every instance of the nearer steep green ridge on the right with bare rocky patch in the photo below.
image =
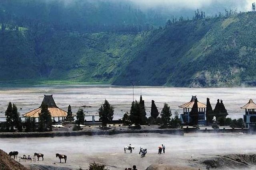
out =
<path fill-rule="evenodd" d="M 114 84 L 255 85 L 255 12 L 185 21 L 158 31 Z"/>

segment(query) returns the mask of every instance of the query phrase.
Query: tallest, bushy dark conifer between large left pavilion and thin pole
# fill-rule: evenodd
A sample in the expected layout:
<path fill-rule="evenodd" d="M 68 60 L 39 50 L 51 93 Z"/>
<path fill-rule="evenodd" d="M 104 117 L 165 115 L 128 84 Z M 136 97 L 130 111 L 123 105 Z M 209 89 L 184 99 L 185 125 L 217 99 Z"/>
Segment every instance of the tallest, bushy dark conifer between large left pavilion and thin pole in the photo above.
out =
<path fill-rule="evenodd" d="M 100 121 L 102 121 L 102 126 L 106 127 L 107 123 L 112 121 L 114 115 L 113 106 L 111 106 L 105 99 L 104 104 L 99 109 Z"/>

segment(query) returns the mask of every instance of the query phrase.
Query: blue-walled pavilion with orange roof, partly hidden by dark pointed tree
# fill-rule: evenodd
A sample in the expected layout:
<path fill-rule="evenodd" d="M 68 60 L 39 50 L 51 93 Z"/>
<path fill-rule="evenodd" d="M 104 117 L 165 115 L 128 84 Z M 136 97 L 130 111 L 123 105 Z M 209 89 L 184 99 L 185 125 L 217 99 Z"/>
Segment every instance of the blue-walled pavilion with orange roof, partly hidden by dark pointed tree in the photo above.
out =
<path fill-rule="evenodd" d="M 196 106 L 194 106 L 196 104 Z M 192 111 L 192 108 L 194 106 L 194 109 Z M 182 104 L 179 106 L 180 108 L 183 108 L 183 114 L 181 114 L 182 121 L 185 124 L 205 124 L 205 110 L 206 110 L 206 105 L 198 102 L 196 96 L 192 96 L 190 102 L 187 102 L 185 104 Z M 197 109 L 197 111 L 195 110 Z M 191 111 L 193 112 L 191 115 Z M 197 120 L 194 120 L 197 119 Z"/>

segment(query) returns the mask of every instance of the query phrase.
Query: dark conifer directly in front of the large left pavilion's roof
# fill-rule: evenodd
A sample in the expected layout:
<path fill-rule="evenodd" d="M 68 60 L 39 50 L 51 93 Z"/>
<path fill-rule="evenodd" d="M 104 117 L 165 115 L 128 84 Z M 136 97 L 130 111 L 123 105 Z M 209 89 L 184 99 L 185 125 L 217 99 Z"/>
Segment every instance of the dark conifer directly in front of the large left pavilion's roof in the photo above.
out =
<path fill-rule="evenodd" d="M 48 106 L 43 104 L 39 113 L 39 131 L 52 131 L 52 117 Z"/>

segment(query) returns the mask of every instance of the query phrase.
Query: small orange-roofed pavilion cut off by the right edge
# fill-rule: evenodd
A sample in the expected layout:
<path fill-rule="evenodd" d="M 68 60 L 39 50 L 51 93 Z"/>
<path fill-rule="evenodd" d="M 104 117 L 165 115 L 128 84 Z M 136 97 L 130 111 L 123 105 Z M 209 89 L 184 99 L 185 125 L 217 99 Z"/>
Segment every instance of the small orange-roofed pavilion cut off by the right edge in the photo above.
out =
<path fill-rule="evenodd" d="M 244 122 L 246 127 L 256 127 L 256 104 L 252 99 L 249 100 L 241 109 L 245 109 Z"/>

